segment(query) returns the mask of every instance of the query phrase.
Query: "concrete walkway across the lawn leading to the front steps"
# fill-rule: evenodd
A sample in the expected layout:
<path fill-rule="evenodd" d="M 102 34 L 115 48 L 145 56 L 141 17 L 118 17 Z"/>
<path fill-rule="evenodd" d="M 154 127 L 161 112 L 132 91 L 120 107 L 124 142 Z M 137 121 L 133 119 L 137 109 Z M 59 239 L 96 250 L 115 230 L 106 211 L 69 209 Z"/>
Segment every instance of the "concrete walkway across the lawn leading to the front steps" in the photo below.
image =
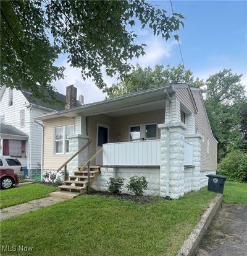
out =
<path fill-rule="evenodd" d="M 60 201 L 64 200 L 66 199 L 48 196 L 36 200 L 31 200 L 27 203 L 21 203 L 20 205 L 9 206 L 0 210 L 0 219 L 2 221 L 3 219 L 8 219 L 23 213 L 30 213 L 30 211 L 36 211 L 40 208 L 54 205 L 54 203 L 59 203 Z"/>

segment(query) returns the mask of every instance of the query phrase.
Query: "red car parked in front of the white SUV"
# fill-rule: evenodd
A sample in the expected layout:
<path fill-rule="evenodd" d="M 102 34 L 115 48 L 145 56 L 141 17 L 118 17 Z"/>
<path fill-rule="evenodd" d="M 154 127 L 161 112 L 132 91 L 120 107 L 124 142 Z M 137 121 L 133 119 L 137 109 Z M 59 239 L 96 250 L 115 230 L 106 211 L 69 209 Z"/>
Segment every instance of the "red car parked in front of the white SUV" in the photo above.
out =
<path fill-rule="evenodd" d="M 15 174 L 13 169 L 0 169 L 0 180 L 1 180 L 1 189 L 7 189 L 13 187 L 13 185 L 19 184 L 18 175 Z"/>

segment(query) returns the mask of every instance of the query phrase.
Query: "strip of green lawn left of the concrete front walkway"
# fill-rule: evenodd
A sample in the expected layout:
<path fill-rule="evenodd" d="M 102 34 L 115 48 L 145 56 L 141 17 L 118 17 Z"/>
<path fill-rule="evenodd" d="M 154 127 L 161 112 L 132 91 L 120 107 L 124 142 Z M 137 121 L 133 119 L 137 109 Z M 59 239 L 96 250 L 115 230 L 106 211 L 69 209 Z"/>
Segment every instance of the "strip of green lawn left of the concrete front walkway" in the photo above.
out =
<path fill-rule="evenodd" d="M 49 196 L 49 193 L 57 191 L 56 187 L 49 187 L 38 183 L 23 185 L 20 187 L 1 190 L 0 208 L 6 208 L 19 203 Z"/>

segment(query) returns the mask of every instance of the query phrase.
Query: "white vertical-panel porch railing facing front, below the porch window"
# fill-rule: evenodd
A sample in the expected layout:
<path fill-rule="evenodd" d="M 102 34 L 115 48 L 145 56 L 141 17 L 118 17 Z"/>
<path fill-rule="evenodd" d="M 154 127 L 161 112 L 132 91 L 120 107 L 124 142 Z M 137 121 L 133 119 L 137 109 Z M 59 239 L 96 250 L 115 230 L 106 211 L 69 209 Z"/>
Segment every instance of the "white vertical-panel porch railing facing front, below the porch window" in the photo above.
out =
<path fill-rule="evenodd" d="M 130 141 L 103 144 L 103 166 L 159 166 L 161 141 Z"/>

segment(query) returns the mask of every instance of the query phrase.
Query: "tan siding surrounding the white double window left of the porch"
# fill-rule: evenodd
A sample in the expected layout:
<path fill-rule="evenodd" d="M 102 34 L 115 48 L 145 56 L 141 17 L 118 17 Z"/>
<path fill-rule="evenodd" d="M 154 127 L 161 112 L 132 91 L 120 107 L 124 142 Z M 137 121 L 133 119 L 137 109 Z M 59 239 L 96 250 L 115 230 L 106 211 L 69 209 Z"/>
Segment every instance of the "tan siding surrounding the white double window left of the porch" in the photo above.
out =
<path fill-rule="evenodd" d="M 73 125 L 75 118 L 61 117 L 44 120 L 44 170 L 57 170 L 69 159 L 69 154 L 54 154 L 54 128 Z"/>

